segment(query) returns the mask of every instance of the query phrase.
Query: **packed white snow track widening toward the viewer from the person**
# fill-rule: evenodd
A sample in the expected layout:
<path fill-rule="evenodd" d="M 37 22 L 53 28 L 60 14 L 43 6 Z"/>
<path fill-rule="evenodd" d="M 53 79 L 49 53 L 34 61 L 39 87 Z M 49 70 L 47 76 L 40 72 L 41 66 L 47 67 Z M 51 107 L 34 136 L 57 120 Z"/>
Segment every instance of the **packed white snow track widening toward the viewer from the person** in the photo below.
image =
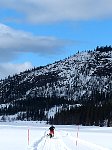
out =
<path fill-rule="evenodd" d="M 77 143 L 77 144 L 76 144 Z M 67 145 L 69 144 L 69 145 Z M 49 138 L 45 131 L 44 135 L 33 143 L 28 150 L 110 150 L 101 145 L 76 138 L 76 136 L 67 133 L 55 131 L 55 137 Z"/>

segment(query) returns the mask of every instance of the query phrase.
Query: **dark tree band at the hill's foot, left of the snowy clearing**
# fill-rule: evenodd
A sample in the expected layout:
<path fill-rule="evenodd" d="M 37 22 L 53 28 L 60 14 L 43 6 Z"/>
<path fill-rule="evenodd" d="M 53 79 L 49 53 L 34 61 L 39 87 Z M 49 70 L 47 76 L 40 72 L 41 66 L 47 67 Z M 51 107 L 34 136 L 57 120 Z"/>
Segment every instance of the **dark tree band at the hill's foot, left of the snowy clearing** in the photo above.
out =
<path fill-rule="evenodd" d="M 68 101 L 56 97 L 31 97 L 15 100 L 0 108 L 0 116 L 17 115 L 17 120 L 48 120 L 47 113 L 50 108 L 64 104 L 73 105 L 74 101 Z M 4 117 L 3 117 L 4 118 Z"/>

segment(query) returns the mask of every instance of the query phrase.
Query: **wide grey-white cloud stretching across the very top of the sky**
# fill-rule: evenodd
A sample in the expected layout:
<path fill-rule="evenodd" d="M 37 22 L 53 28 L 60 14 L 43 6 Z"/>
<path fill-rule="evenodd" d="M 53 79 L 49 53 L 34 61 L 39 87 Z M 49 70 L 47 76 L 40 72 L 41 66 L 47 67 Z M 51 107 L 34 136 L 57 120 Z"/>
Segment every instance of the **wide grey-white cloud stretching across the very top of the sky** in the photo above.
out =
<path fill-rule="evenodd" d="M 23 14 L 22 21 L 51 23 L 112 17 L 111 0 L 4 0 L 0 7 Z"/>

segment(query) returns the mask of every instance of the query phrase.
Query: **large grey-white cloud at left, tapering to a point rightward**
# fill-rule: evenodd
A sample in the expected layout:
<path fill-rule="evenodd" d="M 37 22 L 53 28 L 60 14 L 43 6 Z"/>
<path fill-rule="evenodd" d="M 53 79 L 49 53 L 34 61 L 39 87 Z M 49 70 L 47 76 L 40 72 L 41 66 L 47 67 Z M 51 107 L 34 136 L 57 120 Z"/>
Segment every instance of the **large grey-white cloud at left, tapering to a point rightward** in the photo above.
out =
<path fill-rule="evenodd" d="M 34 36 L 0 24 L 0 61 L 9 61 L 22 52 L 40 55 L 59 53 L 66 44 L 67 41 L 55 37 Z"/>

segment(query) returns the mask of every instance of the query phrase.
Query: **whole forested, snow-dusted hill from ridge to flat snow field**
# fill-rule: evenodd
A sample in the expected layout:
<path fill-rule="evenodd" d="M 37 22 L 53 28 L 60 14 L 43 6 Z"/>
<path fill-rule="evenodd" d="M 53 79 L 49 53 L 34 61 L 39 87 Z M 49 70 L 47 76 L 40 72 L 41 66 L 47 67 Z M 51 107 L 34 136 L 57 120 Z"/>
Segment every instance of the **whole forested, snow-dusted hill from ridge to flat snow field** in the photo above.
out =
<path fill-rule="evenodd" d="M 104 120 L 110 124 L 111 105 L 111 46 L 77 53 L 0 81 L 2 120 L 10 116 L 20 120 L 50 119 L 56 124 L 98 124 Z M 52 115 L 51 110 L 55 110 Z M 67 117 L 62 121 L 65 113 Z"/>

